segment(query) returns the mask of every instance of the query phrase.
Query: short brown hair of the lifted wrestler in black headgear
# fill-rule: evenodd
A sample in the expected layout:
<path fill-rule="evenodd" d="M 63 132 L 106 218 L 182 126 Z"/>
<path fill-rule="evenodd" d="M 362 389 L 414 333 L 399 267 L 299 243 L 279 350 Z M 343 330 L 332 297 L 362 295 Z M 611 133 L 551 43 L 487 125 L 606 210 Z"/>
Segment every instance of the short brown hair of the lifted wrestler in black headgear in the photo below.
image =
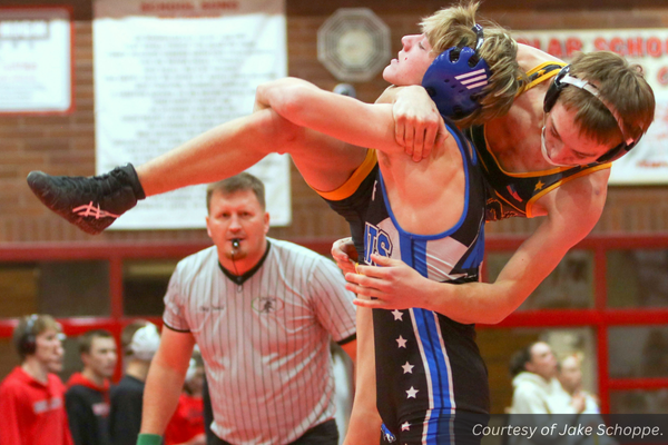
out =
<path fill-rule="evenodd" d="M 616 146 L 623 134 L 638 140 L 647 132 L 655 116 L 655 96 L 638 65 L 629 63 L 611 51 L 578 53 L 571 65 L 570 75 L 593 83 L 600 97 L 619 115 L 621 123 L 606 105 L 590 92 L 580 88 L 564 88 L 559 101 L 567 109 L 577 110 L 576 123 L 580 134 L 598 144 Z"/>

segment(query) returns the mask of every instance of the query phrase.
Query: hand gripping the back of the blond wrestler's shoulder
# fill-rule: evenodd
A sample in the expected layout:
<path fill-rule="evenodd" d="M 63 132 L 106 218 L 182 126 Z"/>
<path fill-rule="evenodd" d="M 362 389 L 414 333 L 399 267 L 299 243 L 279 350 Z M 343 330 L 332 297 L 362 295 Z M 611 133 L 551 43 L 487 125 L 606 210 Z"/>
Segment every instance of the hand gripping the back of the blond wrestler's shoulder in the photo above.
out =
<path fill-rule="evenodd" d="M 443 144 L 450 135 L 436 105 L 420 86 L 397 89 L 392 113 L 396 144 L 414 161 L 429 157 L 434 146 Z"/>

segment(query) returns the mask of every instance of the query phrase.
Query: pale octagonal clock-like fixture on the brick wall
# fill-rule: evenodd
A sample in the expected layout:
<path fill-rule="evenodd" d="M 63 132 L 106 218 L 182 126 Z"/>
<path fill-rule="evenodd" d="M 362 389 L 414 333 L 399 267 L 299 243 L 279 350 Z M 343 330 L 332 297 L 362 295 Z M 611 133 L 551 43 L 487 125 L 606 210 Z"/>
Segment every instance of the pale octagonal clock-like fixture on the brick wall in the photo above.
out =
<path fill-rule="evenodd" d="M 338 80 L 371 80 L 390 51 L 390 28 L 369 8 L 341 8 L 317 31 L 317 59 Z"/>

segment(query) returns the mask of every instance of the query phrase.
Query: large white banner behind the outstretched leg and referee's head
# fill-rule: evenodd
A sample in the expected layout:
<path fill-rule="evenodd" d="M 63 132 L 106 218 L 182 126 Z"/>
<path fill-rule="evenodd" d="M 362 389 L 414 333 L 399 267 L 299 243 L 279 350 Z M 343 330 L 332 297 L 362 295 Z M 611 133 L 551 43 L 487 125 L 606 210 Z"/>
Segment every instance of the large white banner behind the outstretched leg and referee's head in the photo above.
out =
<path fill-rule="evenodd" d="M 96 169 L 141 165 L 253 111 L 255 89 L 287 75 L 284 0 L 96 0 Z M 273 226 L 291 222 L 289 158 L 248 171 Z M 206 186 L 140 201 L 111 228 L 205 227 Z"/>

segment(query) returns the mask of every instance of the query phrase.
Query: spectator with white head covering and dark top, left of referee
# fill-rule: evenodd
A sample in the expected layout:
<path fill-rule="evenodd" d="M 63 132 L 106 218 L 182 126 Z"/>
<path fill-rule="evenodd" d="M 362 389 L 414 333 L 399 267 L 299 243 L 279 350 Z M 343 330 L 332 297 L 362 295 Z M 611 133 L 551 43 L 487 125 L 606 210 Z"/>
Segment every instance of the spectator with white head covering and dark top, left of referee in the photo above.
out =
<path fill-rule="evenodd" d="M 136 320 L 122 329 L 120 342 L 127 363 L 124 377 L 111 389 L 109 428 L 112 445 L 135 445 L 141 426 L 144 383 L 160 334 L 153 323 Z"/>

